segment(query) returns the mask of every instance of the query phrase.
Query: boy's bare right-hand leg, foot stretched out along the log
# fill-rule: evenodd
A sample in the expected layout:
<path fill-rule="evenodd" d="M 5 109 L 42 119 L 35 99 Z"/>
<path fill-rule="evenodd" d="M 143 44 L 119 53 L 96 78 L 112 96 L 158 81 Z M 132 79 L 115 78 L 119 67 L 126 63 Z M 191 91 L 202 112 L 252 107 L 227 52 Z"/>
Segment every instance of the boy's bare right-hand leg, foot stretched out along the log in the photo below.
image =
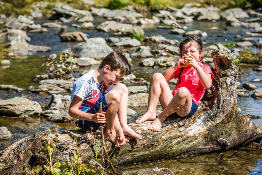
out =
<path fill-rule="evenodd" d="M 114 87 L 114 90 L 117 90 L 121 95 L 121 101 L 117 112 L 119 120 L 115 119 L 115 129 L 121 129 L 125 135 L 133 138 L 142 139 L 141 135 L 135 133 L 134 130 L 127 125 L 128 88 L 124 84 L 119 83 Z"/>

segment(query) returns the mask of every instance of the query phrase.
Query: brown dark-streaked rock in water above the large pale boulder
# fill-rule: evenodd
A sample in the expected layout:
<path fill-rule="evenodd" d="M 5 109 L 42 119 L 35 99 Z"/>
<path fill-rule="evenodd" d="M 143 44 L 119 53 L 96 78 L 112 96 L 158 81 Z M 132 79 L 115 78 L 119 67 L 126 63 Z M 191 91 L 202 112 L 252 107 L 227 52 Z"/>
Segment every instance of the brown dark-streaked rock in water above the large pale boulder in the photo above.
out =
<path fill-rule="evenodd" d="M 88 38 L 86 34 L 81 31 L 68 32 L 60 35 L 61 41 L 86 41 Z"/>

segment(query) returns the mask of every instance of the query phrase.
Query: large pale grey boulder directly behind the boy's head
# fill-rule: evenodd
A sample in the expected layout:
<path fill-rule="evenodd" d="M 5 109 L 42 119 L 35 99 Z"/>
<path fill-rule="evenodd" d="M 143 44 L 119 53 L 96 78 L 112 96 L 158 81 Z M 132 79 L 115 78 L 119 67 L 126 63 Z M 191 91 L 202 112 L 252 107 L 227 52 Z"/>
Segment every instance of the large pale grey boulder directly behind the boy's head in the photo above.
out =
<path fill-rule="evenodd" d="M 88 39 L 87 41 L 78 43 L 63 52 L 69 53 L 73 57 L 91 57 L 95 60 L 101 60 L 113 51 L 114 50 L 105 43 L 95 42 L 94 40 Z"/>

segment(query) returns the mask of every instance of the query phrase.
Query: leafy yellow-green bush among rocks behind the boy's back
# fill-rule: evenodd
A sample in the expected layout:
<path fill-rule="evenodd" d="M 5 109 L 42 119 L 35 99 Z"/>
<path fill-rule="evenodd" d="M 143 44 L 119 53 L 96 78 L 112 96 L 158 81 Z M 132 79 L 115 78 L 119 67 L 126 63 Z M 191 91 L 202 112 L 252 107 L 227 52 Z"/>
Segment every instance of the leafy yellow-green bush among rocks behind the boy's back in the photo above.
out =
<path fill-rule="evenodd" d="M 67 53 L 60 53 L 56 58 L 47 58 L 45 65 L 51 79 L 69 79 L 77 68 L 76 60 Z"/>

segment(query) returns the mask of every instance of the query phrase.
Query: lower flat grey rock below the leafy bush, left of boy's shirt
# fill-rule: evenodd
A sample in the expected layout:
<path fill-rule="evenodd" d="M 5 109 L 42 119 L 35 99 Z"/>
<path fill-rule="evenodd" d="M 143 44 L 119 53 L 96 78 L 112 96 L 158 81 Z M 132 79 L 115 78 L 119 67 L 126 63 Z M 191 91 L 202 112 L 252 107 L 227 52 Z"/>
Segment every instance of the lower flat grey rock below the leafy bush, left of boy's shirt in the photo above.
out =
<path fill-rule="evenodd" d="M 31 89 L 31 92 L 45 92 L 49 94 L 58 94 L 58 93 L 65 93 L 68 92 L 67 90 L 63 88 L 59 88 L 58 86 L 55 85 L 50 85 L 50 84 L 42 84 L 36 87 L 35 89 Z"/>

